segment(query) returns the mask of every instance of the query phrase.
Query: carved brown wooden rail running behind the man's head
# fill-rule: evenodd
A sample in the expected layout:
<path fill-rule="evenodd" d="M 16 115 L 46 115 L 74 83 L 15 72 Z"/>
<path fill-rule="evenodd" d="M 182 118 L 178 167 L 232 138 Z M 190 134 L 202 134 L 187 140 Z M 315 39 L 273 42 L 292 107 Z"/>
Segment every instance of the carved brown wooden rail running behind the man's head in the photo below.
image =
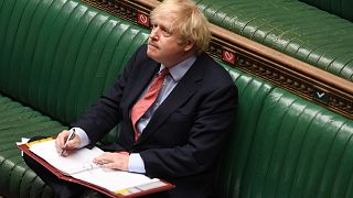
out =
<path fill-rule="evenodd" d="M 100 10 L 151 29 L 157 0 L 83 0 Z M 211 24 L 207 53 L 215 59 L 257 76 L 295 95 L 353 119 L 353 82 Z"/>

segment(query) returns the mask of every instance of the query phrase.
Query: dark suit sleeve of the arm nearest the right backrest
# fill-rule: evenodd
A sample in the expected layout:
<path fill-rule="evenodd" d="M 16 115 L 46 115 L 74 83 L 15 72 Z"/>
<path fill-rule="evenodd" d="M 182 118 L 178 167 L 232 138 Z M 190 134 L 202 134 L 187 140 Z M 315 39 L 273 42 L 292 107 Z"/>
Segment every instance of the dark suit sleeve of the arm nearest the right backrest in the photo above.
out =
<path fill-rule="evenodd" d="M 203 94 L 183 145 L 151 148 L 140 153 L 150 177 L 174 178 L 194 175 L 214 167 L 222 142 L 231 129 L 237 106 L 233 82 Z"/>

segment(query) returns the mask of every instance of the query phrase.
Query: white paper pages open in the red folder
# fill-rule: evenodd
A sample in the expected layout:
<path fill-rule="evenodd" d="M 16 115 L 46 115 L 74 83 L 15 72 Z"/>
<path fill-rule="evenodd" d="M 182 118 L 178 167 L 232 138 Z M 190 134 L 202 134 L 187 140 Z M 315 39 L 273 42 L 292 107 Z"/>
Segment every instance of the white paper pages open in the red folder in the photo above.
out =
<path fill-rule="evenodd" d="M 74 178 L 100 186 L 110 191 L 118 191 L 131 187 L 159 182 L 142 174 L 106 169 L 99 166 L 90 167 L 93 160 L 104 151 L 98 147 L 81 148 L 67 157 L 60 156 L 55 148 L 55 140 L 40 142 L 30 146 L 30 151 L 45 160 L 62 173 Z M 88 167 L 88 168 L 87 168 Z M 90 168 L 89 168 L 90 167 Z M 82 172 L 83 169 L 86 169 Z"/>

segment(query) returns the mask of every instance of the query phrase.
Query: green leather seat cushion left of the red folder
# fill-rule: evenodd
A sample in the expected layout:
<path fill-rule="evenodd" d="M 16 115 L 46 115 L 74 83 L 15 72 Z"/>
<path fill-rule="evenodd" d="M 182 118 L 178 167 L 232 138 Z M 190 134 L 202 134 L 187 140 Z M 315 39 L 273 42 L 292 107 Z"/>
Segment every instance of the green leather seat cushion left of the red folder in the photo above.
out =
<path fill-rule="evenodd" d="M 43 182 L 25 165 L 15 142 L 54 135 L 66 129 L 57 121 L 0 96 L 0 189 L 6 197 L 51 197 Z"/>

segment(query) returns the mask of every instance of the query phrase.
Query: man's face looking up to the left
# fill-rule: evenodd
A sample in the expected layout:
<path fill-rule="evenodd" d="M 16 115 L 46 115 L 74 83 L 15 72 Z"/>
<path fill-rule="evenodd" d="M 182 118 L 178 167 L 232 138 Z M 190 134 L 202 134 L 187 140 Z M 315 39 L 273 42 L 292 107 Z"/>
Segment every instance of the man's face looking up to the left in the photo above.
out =
<path fill-rule="evenodd" d="M 147 55 L 167 67 L 188 58 L 193 46 L 190 42 L 181 43 L 179 32 L 172 31 L 173 19 L 172 15 L 156 18 L 148 40 Z"/>

